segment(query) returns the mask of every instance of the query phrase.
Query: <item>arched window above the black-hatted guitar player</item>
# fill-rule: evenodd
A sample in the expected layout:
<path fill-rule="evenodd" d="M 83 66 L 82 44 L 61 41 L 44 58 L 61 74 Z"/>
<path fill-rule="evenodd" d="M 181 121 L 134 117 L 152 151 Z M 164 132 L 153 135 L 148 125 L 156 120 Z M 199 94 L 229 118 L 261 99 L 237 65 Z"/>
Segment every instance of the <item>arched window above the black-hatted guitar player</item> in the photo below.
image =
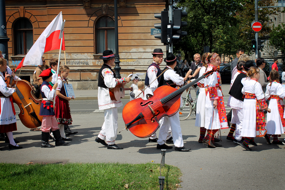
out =
<path fill-rule="evenodd" d="M 115 21 L 110 17 L 101 17 L 95 24 L 96 54 L 105 50 L 115 53 Z"/>

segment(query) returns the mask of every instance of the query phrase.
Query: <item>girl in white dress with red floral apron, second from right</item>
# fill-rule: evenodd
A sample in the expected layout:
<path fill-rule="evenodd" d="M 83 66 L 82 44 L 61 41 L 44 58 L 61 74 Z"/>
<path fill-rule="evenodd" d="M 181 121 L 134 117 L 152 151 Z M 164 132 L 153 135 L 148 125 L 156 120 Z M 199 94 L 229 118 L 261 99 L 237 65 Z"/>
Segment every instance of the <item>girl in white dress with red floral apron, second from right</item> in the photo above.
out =
<path fill-rule="evenodd" d="M 251 150 L 248 144 L 254 137 L 263 137 L 266 134 L 263 109 L 271 112 L 266 104 L 262 87 L 259 82 L 259 68 L 251 67 L 247 73 L 248 78 L 242 80 L 241 92 L 245 95 L 243 101 L 243 129 L 241 136 L 245 137 L 241 147 Z"/>

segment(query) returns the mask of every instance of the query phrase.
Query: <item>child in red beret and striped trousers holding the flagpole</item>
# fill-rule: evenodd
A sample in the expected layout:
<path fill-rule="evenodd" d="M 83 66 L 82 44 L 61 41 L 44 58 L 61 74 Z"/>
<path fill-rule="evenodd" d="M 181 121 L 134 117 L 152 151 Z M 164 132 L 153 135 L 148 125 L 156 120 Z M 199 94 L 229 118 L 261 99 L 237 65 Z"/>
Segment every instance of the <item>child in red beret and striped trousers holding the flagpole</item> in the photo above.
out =
<path fill-rule="evenodd" d="M 68 145 L 68 142 L 64 142 L 61 138 L 60 131 L 58 128 L 58 124 L 56 118 L 54 116 L 53 110 L 53 98 L 55 89 L 57 87 L 57 83 L 54 84 L 52 87 L 49 82 L 52 81 L 52 72 L 51 68 L 43 70 L 40 74 L 42 77 L 42 85 L 40 86 L 40 92 L 42 94 L 42 104 L 40 105 L 40 116 L 42 117 L 42 144 L 40 145 L 41 148 L 47 147 L 51 148 L 54 145 L 48 143 L 50 130 L 52 131 L 54 138 L 55 138 L 55 145 L 62 146 Z"/>

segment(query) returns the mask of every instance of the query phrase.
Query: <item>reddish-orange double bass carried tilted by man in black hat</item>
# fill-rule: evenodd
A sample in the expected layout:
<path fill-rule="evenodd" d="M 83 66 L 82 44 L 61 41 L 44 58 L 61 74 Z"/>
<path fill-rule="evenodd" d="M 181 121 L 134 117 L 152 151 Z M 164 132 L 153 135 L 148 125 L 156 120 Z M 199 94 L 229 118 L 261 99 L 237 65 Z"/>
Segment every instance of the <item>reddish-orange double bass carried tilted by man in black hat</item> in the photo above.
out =
<path fill-rule="evenodd" d="M 173 116 L 180 108 L 180 96 L 190 86 L 212 74 L 217 67 L 203 74 L 198 79 L 176 89 L 160 86 L 148 100 L 141 98 L 128 102 L 123 108 L 123 120 L 126 129 L 139 138 L 152 135 L 159 127 L 158 121 L 164 116 Z"/>

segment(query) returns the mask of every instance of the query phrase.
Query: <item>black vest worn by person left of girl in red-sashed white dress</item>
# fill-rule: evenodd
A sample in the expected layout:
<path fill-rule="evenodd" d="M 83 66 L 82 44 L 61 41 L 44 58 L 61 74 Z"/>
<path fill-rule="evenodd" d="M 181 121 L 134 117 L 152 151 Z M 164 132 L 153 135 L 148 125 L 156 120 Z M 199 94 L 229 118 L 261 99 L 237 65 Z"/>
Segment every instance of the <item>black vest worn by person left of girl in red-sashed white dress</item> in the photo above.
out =
<path fill-rule="evenodd" d="M 244 72 L 241 72 L 240 74 L 238 74 L 229 92 L 231 96 L 241 101 L 245 100 L 245 98 L 243 97 L 243 93 L 241 93 L 241 89 L 243 88 L 243 84 L 241 84 L 241 80 L 245 77 L 247 77 L 247 75 Z"/>

